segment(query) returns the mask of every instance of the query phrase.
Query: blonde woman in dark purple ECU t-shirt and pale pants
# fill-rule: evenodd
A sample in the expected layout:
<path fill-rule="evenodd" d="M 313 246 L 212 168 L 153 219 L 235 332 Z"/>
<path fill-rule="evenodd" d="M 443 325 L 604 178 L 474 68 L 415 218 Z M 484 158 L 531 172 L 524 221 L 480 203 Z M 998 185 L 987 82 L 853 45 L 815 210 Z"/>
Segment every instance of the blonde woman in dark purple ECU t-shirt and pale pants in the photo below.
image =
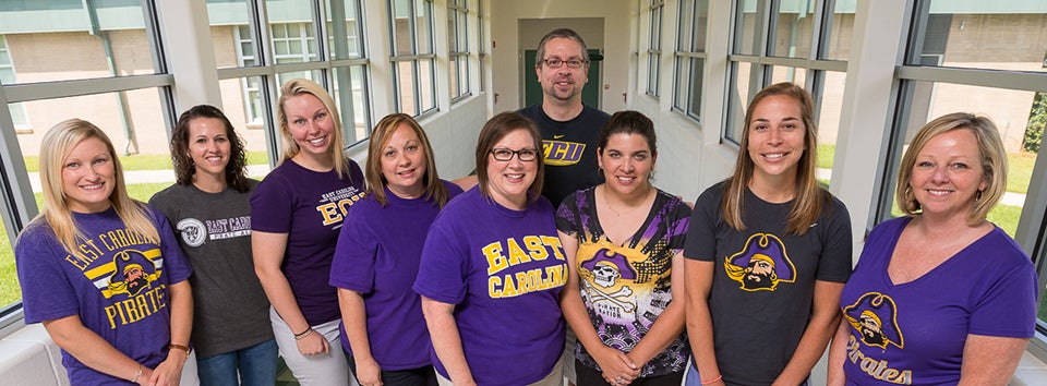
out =
<path fill-rule="evenodd" d="M 338 110 L 318 84 L 285 83 L 277 118 L 282 159 L 251 196 L 254 269 L 273 304 L 280 355 L 298 382 L 347 385 L 338 292 L 327 281 L 339 228 L 363 197 L 363 172 L 342 153 Z"/>

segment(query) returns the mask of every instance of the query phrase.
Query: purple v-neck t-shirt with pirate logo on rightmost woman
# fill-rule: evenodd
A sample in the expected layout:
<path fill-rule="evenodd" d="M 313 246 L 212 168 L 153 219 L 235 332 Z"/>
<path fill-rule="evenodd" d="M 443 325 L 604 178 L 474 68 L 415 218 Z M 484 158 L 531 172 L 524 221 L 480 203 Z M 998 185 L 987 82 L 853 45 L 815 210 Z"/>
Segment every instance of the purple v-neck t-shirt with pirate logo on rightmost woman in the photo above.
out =
<path fill-rule="evenodd" d="M 843 289 L 849 384 L 955 385 L 968 334 L 1030 338 L 1035 331 L 1036 270 L 1000 228 L 924 276 L 894 285 L 887 266 L 910 220 L 872 229 Z"/>

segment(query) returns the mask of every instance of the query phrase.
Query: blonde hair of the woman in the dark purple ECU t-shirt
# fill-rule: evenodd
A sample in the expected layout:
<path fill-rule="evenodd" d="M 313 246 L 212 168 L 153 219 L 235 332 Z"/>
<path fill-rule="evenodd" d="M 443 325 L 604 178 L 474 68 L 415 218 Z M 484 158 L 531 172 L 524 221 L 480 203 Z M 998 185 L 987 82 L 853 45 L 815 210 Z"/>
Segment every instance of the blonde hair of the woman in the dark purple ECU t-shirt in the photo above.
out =
<path fill-rule="evenodd" d="M 306 94 L 320 99 L 320 102 L 324 104 L 324 107 L 327 108 L 327 113 L 329 113 L 334 120 L 335 130 L 334 133 L 330 134 L 332 142 L 330 147 L 327 148 L 327 155 L 330 156 L 335 165 L 335 171 L 338 172 L 338 178 L 351 179 L 349 162 L 346 161 L 346 156 L 342 154 L 342 149 L 346 148 L 346 140 L 341 134 L 341 116 L 338 114 L 335 99 L 332 99 L 330 94 L 327 94 L 324 87 L 321 87 L 316 82 L 310 80 L 290 80 L 280 87 L 280 100 L 277 101 L 276 105 L 276 119 L 280 121 L 280 135 L 284 138 L 284 156 L 280 158 L 280 162 L 293 158 L 302 150 L 302 148 L 298 146 L 298 143 L 294 142 L 294 137 L 291 136 L 290 130 L 287 129 L 287 111 L 284 109 L 284 102 L 286 102 L 287 99 Z"/>

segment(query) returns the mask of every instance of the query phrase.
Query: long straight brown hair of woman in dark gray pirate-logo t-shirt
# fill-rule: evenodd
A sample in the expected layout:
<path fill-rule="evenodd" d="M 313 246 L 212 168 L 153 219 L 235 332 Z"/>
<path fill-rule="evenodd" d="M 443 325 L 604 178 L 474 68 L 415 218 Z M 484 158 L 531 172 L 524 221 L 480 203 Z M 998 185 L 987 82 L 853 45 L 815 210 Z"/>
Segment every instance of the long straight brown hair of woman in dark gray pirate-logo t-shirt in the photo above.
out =
<path fill-rule="evenodd" d="M 749 124 L 753 121 L 756 107 L 770 96 L 785 96 L 796 100 L 799 104 L 801 118 L 804 121 L 804 154 L 801 155 L 796 167 L 794 197 L 785 225 L 786 233 L 804 234 L 810 228 L 810 225 L 815 224 L 821 216 L 822 208 L 829 205 L 832 196 L 825 189 L 821 189 L 818 185 L 818 180 L 815 179 L 818 129 L 815 125 L 814 98 L 803 87 L 787 82 L 765 87 L 753 97 L 753 101 L 745 109 L 745 128 L 742 131 L 738 159 L 734 166 L 734 176 L 726 180 L 723 201 L 721 202 L 723 219 L 727 221 L 731 228 L 745 229 L 745 224 L 742 221 L 743 202 L 745 201 L 745 191 L 753 179 L 753 170 L 756 167 L 749 154 Z"/>

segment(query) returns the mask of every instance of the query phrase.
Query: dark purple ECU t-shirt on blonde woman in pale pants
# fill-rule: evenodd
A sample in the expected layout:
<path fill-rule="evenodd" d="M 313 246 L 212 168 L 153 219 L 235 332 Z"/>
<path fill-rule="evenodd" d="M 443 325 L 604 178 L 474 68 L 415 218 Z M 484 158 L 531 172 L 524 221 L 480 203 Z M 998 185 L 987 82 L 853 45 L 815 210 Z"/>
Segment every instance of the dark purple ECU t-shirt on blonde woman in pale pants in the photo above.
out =
<path fill-rule="evenodd" d="M 327 284 L 330 260 L 349 207 L 363 197 L 363 173 L 347 161 L 349 178 L 284 161 L 251 195 L 251 230 L 288 233 L 280 268 L 311 326 L 341 316 L 338 292 Z"/>

